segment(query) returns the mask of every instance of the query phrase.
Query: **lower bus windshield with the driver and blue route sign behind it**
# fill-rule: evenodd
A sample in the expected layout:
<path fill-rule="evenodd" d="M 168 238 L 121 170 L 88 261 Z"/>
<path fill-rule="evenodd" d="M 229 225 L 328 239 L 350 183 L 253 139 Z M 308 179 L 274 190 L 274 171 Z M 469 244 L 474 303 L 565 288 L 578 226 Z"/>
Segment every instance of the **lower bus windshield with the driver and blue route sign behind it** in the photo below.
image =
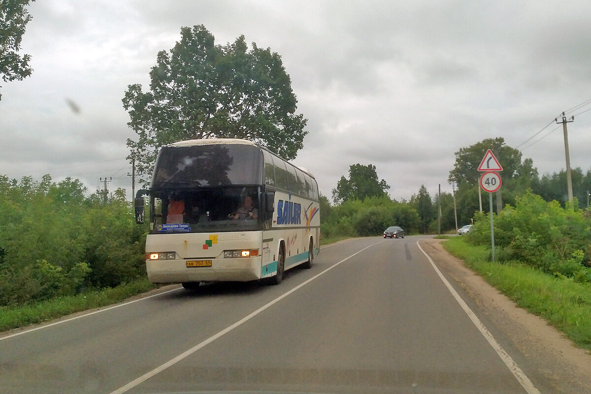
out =
<path fill-rule="evenodd" d="M 150 201 L 152 233 L 261 230 L 258 187 L 154 191 Z"/>

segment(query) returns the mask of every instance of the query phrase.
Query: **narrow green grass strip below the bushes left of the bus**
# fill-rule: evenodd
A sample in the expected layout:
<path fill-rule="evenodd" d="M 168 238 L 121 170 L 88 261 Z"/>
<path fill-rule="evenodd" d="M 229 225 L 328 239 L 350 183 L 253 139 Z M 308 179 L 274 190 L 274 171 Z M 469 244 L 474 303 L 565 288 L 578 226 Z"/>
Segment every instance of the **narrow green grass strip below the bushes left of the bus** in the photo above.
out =
<path fill-rule="evenodd" d="M 157 288 L 157 285 L 150 283 L 147 278 L 143 278 L 115 288 L 88 291 L 67 297 L 56 297 L 29 305 L 1 307 L 0 331 L 43 323 L 74 312 L 105 307 L 154 288 Z"/>

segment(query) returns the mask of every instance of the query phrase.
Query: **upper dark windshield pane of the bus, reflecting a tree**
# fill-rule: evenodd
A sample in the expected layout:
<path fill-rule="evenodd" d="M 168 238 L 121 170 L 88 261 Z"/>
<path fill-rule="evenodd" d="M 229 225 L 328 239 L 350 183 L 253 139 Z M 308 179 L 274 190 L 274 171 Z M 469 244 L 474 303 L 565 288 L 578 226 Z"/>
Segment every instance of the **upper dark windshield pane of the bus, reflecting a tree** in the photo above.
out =
<path fill-rule="evenodd" d="M 253 145 L 165 146 L 151 188 L 261 185 L 262 161 L 261 149 Z"/>

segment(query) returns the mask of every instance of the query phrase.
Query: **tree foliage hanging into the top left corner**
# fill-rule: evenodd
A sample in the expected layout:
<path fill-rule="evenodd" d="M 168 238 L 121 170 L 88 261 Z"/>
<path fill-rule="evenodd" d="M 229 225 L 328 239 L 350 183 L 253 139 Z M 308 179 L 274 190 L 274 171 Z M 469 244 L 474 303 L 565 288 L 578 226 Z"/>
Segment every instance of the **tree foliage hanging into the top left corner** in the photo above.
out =
<path fill-rule="evenodd" d="M 29 66 L 31 56 L 18 54 L 25 27 L 32 18 L 25 9 L 30 1 L 35 0 L 0 0 L 0 75 L 4 82 L 22 80 L 33 72 Z"/>

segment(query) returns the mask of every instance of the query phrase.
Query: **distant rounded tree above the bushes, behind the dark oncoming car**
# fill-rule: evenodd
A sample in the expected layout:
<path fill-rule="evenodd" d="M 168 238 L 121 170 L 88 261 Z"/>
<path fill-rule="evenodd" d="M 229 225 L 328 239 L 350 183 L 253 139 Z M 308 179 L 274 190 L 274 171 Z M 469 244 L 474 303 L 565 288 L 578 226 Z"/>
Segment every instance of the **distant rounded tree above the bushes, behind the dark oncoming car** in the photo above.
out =
<path fill-rule="evenodd" d="M 378 180 L 375 165 L 353 164 L 349 166 L 349 179 L 340 177 L 333 189 L 335 203 L 347 200 L 363 200 L 366 197 L 386 196 L 390 187 L 385 180 Z"/>

